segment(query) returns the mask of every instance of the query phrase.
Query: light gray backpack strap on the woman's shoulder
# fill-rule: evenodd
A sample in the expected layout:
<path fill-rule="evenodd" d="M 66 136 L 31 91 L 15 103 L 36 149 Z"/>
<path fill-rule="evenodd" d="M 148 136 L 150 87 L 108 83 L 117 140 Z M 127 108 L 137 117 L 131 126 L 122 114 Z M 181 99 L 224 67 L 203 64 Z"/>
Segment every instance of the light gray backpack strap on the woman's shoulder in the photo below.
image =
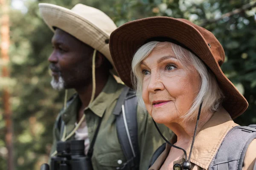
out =
<path fill-rule="evenodd" d="M 233 127 L 225 136 L 209 170 L 241 170 L 249 144 L 256 139 L 256 129 L 247 126 Z"/>

